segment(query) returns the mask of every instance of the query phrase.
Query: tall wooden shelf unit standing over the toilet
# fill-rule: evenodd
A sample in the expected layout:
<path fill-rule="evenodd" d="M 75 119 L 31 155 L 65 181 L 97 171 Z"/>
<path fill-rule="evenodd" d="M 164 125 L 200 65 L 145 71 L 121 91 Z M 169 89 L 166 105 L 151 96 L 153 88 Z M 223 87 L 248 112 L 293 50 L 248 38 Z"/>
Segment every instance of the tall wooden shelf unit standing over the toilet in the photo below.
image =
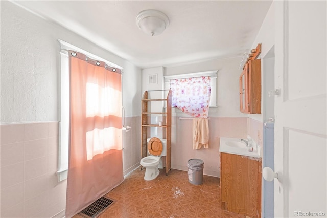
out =
<path fill-rule="evenodd" d="M 160 91 L 160 90 L 158 90 Z M 164 92 L 164 90 L 162 90 Z M 148 103 L 152 101 L 165 101 L 166 102 L 166 112 L 151 112 L 149 111 Z M 167 150 L 166 150 L 166 175 L 171 169 L 171 120 L 172 120 L 172 93 L 171 90 L 168 91 L 167 98 L 165 99 L 148 99 L 148 91 L 145 91 L 142 97 L 142 130 L 141 130 L 141 158 L 148 156 L 147 148 L 147 138 L 148 130 L 151 127 L 159 127 L 165 129 Z M 162 114 L 166 117 L 166 122 L 164 125 L 159 126 L 158 124 L 149 123 L 149 117 L 154 114 Z"/>

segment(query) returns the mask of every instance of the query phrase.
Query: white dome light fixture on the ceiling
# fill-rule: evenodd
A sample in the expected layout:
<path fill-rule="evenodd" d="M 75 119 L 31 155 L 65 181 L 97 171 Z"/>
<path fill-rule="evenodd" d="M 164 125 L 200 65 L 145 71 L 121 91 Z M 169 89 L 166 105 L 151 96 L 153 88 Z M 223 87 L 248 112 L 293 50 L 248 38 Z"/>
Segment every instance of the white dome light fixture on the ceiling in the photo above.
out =
<path fill-rule="evenodd" d="M 156 36 L 169 25 L 168 16 L 158 10 L 144 10 L 136 16 L 137 26 L 146 34 Z"/>

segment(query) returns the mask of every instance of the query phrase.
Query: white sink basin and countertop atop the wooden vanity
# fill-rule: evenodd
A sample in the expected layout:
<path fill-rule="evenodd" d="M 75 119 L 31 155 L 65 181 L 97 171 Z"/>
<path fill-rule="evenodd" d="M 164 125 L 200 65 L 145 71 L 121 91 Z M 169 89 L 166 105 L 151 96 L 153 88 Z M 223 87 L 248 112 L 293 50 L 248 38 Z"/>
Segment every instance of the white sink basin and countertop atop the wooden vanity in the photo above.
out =
<path fill-rule="evenodd" d="M 260 146 L 256 150 L 251 150 L 252 147 L 247 147 L 245 143 L 241 142 L 240 138 L 220 138 L 219 152 L 244 155 L 249 157 L 261 157 Z"/>

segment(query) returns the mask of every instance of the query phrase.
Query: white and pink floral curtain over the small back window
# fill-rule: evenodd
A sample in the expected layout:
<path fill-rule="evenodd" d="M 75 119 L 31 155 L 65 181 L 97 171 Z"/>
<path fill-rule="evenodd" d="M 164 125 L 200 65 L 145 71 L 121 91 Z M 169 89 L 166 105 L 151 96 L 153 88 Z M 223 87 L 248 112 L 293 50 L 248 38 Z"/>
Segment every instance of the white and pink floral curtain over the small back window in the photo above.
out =
<path fill-rule="evenodd" d="M 210 102 L 210 77 L 171 79 L 172 106 L 192 117 L 207 118 Z"/>

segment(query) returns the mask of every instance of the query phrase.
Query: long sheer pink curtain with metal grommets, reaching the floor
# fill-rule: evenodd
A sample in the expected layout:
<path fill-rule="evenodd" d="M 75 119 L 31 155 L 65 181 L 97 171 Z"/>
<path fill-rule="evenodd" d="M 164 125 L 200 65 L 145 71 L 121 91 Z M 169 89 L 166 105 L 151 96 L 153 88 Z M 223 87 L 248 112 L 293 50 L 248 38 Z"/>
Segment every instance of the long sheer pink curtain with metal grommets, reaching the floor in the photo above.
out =
<path fill-rule="evenodd" d="M 69 70 L 66 217 L 80 212 L 124 180 L 121 71 L 73 51 L 69 51 Z"/>

